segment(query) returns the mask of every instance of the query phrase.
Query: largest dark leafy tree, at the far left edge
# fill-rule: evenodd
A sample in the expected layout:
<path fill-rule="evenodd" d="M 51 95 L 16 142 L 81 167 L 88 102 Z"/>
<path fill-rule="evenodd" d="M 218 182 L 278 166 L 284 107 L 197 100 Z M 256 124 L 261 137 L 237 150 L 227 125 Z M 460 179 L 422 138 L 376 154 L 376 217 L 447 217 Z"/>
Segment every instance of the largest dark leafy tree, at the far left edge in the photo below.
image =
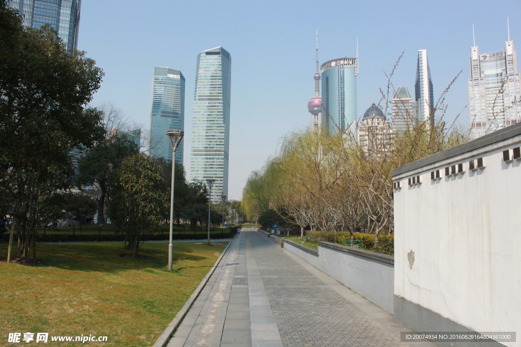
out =
<path fill-rule="evenodd" d="M 71 151 L 102 138 L 101 112 L 84 107 L 102 76 L 51 29 L 23 29 L 0 0 L 0 204 L 14 215 L 22 259 L 35 249 L 44 197 L 73 183 Z"/>

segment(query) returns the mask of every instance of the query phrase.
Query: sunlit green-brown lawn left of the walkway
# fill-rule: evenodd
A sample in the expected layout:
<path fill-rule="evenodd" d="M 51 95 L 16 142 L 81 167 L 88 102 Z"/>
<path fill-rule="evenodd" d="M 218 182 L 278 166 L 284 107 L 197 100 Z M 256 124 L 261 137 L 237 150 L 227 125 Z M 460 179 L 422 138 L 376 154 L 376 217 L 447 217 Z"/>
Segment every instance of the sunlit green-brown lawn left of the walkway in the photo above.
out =
<path fill-rule="evenodd" d="M 122 242 L 39 244 L 37 266 L 0 262 L 0 345 L 9 332 L 48 332 L 49 342 L 92 334 L 107 336 L 103 345 L 152 345 L 226 244 L 175 243 L 173 272 L 167 242 L 144 243 L 135 260 L 125 257 Z"/>

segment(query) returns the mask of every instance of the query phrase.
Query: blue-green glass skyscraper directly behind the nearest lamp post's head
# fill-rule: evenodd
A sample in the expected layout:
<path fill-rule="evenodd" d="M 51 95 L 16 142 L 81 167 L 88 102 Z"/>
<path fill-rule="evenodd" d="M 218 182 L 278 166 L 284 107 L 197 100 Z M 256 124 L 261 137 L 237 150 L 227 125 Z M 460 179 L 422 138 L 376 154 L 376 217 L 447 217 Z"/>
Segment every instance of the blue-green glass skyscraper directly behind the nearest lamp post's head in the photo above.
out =
<path fill-rule="evenodd" d="M 172 161 L 172 147 L 167 130 L 184 131 L 184 76 L 179 70 L 156 66 L 152 84 L 150 155 Z M 183 142 L 176 150 L 176 162 L 183 163 Z"/>

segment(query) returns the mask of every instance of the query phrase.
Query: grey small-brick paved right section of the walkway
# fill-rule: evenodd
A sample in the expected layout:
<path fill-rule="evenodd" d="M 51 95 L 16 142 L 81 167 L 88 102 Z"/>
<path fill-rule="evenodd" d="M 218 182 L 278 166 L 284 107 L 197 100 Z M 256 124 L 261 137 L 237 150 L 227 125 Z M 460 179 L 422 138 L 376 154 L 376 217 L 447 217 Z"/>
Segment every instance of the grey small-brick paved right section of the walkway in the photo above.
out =
<path fill-rule="evenodd" d="M 247 233 L 284 346 L 407 345 L 256 233 Z"/>

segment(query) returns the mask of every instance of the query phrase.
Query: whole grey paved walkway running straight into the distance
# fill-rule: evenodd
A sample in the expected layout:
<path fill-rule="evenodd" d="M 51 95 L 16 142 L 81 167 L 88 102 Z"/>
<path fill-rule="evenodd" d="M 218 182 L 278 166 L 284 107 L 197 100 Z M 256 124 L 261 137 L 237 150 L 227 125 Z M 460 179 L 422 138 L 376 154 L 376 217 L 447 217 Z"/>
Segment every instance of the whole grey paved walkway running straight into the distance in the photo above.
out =
<path fill-rule="evenodd" d="M 432 345 L 253 229 L 232 241 L 168 346 Z"/>

